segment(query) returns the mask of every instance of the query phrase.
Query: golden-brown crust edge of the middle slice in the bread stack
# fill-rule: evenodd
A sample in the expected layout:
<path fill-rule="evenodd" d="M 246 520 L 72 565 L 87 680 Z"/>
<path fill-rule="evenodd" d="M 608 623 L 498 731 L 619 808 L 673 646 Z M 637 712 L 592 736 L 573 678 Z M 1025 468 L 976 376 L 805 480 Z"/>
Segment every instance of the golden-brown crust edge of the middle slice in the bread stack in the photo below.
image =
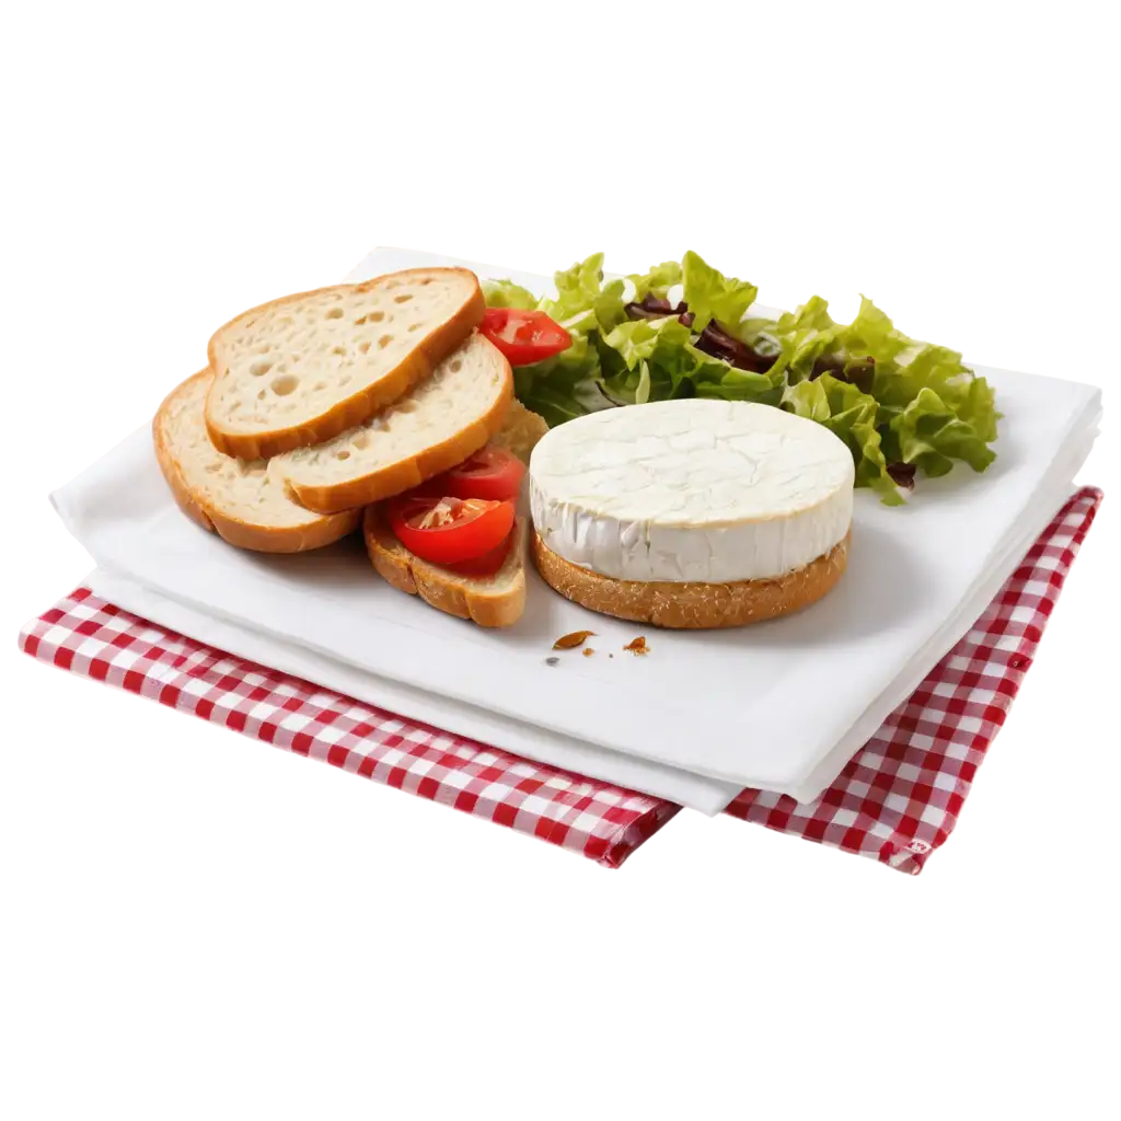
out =
<path fill-rule="evenodd" d="M 443 443 L 426 447 L 411 458 L 379 467 L 359 479 L 348 479 L 330 487 L 300 484 L 286 479 L 288 490 L 295 500 L 317 513 L 352 510 L 404 494 L 405 491 L 419 487 L 420 483 L 445 471 L 451 471 L 474 455 L 502 429 L 513 402 L 513 371 L 510 369 L 510 363 L 497 348 L 490 346 L 489 352 L 492 361 L 502 371 L 503 382 L 493 406 L 484 416 L 478 417 Z"/>

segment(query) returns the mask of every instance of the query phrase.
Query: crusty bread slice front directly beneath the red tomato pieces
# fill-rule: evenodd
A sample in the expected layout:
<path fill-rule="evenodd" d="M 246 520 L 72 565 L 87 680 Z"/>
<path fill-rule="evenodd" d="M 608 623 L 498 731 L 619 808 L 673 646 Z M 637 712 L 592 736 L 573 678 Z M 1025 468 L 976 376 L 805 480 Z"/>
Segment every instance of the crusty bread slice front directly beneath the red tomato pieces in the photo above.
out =
<path fill-rule="evenodd" d="M 526 609 L 526 538 L 524 518 L 515 522 L 515 540 L 502 568 L 485 578 L 460 576 L 415 556 L 393 536 L 378 507 L 365 511 L 365 549 L 374 571 L 387 583 L 458 619 L 480 627 L 512 627 Z"/>

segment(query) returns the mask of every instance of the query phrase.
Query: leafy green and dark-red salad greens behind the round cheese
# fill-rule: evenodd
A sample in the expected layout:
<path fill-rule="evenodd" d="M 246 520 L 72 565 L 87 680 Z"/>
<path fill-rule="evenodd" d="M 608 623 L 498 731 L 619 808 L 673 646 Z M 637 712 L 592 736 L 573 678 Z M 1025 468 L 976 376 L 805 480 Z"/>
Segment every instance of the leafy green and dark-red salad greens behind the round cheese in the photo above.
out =
<path fill-rule="evenodd" d="M 586 253 L 559 265 L 554 284 L 556 298 L 541 300 L 509 281 L 483 286 L 488 306 L 543 311 L 572 335 L 568 350 L 515 370 L 518 398 L 552 427 L 680 397 L 771 405 L 841 437 L 856 485 L 888 504 L 904 502 L 918 474 L 955 462 L 984 471 L 995 457 L 1001 415 L 988 382 L 868 297 L 844 318 L 819 295 L 778 319 L 752 316 L 757 287 L 692 251 L 626 281 Z"/>

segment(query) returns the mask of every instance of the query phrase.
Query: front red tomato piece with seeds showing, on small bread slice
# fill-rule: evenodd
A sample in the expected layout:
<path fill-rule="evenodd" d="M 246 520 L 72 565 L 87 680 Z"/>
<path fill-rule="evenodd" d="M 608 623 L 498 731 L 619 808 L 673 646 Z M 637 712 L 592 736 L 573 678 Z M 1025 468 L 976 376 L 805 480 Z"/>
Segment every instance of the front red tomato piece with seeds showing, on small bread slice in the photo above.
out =
<path fill-rule="evenodd" d="M 462 564 L 498 548 L 513 528 L 512 502 L 402 494 L 386 508 L 389 528 L 421 560 Z"/>

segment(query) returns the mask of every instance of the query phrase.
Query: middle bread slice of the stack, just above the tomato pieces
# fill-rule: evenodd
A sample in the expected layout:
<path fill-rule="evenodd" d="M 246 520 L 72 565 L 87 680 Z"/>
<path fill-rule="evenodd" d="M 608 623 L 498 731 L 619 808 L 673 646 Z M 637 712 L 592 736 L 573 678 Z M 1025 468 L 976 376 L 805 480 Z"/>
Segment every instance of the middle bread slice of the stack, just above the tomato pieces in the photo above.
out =
<path fill-rule="evenodd" d="M 478 452 L 501 428 L 512 400 L 510 363 L 474 334 L 408 397 L 334 439 L 276 456 L 269 472 L 309 510 L 368 506 Z"/>

